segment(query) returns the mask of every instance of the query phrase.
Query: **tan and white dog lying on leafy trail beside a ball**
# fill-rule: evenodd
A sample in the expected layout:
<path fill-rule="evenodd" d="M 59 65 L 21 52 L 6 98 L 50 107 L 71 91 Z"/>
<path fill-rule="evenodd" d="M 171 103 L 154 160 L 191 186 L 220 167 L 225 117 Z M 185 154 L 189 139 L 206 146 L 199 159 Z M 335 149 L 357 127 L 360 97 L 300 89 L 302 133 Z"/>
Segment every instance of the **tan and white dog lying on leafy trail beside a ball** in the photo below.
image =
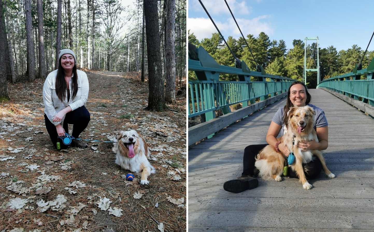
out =
<path fill-rule="evenodd" d="M 121 130 L 117 133 L 116 139 L 117 142 L 112 149 L 117 153 L 116 164 L 140 174 L 140 184 L 149 184 L 147 177 L 156 171 L 147 159 L 149 151 L 144 138 L 135 130 Z"/>

